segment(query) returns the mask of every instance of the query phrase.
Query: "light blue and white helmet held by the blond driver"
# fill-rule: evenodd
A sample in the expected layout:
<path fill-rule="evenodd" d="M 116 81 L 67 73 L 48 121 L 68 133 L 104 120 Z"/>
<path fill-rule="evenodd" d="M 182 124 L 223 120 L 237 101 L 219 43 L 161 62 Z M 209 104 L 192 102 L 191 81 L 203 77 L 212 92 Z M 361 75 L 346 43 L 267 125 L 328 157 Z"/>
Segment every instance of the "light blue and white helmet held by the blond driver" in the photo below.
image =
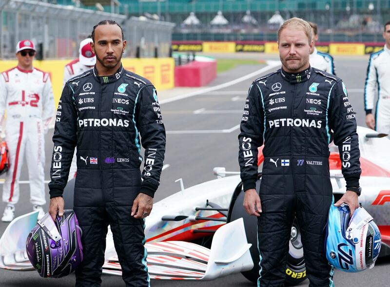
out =
<path fill-rule="evenodd" d="M 329 210 L 325 252 L 329 263 L 346 272 L 373 268 L 381 249 L 381 234 L 372 216 L 359 207 L 350 220 L 350 208 L 342 204 Z"/>

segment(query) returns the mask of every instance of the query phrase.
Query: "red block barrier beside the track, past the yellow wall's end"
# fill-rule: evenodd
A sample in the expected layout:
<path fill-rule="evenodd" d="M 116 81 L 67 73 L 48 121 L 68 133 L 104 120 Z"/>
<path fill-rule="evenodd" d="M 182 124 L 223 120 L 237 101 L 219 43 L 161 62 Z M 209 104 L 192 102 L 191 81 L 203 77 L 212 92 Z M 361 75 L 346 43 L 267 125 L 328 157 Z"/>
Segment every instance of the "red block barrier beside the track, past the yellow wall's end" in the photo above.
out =
<path fill-rule="evenodd" d="M 216 61 L 198 62 L 175 67 L 176 87 L 201 87 L 216 77 Z"/>

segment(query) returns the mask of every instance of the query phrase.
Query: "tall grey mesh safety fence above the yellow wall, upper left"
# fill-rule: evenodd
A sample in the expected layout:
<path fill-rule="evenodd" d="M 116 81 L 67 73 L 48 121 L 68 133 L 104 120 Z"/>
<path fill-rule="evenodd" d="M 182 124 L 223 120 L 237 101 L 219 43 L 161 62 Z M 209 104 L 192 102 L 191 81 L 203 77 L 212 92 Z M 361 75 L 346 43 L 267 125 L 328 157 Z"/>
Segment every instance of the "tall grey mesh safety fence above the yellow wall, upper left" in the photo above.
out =
<path fill-rule="evenodd" d="M 38 58 L 78 57 L 80 40 L 100 20 L 117 21 L 128 40 L 125 57 L 169 57 L 175 24 L 32 0 L 0 0 L 0 58 L 15 58 L 16 43 L 31 39 Z"/>

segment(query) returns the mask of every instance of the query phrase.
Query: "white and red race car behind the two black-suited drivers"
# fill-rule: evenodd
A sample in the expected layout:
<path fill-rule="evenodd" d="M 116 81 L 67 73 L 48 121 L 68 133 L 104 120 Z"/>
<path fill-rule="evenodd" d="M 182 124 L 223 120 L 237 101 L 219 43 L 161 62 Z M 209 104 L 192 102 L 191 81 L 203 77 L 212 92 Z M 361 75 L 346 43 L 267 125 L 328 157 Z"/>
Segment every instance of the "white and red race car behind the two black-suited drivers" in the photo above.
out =
<path fill-rule="evenodd" d="M 362 169 L 362 195 L 359 201 L 373 216 L 381 231 L 380 256 L 389 255 L 390 218 L 386 214 L 390 211 L 390 153 L 387 152 L 390 139 L 385 134 L 363 127 L 358 127 L 358 134 Z M 331 183 L 337 201 L 345 192 L 345 181 L 337 147 L 331 145 L 330 150 Z M 260 152 L 257 190 L 261 184 L 263 159 Z M 153 212 L 145 222 L 147 264 L 152 279 L 212 280 L 242 272 L 249 280 L 257 281 L 257 222 L 256 217 L 249 216 L 242 207 L 244 192 L 239 172 L 226 172 L 224 168 L 214 170 L 217 179 L 187 189 L 184 189 L 181 181 L 181 191 L 154 204 Z M 226 176 L 228 174 L 233 175 Z M 65 207 L 68 209 L 73 204 L 72 183 L 74 181 L 69 182 L 64 192 Z M 24 256 L 24 242 L 19 245 L 15 238 L 23 238 L 23 234 L 27 237 L 35 224 L 34 212 L 11 222 L 0 238 L 0 268 L 33 269 Z M 20 234 L 20 237 L 15 234 Z M 211 240 L 209 249 L 207 247 L 210 247 Z M 121 275 L 110 231 L 107 234 L 103 272 Z M 296 221 L 292 226 L 286 274 L 286 282 L 290 285 L 306 279 Z"/>

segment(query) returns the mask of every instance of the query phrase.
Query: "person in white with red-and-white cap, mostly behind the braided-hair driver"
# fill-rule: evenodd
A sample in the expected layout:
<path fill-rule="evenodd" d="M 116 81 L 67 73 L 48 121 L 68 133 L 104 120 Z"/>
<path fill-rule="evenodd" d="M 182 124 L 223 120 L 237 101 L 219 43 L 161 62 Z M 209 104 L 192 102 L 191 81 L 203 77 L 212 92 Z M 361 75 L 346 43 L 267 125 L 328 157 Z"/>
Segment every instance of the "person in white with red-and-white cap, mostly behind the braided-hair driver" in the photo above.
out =
<path fill-rule="evenodd" d="M 64 78 L 62 83 L 62 88 L 65 86 L 66 82 L 73 77 L 81 75 L 82 73 L 91 70 L 94 68 L 96 63 L 96 55 L 92 51 L 91 43 L 92 38 L 86 38 L 80 42 L 80 47 L 78 48 L 78 58 L 66 64 L 64 69 Z M 72 165 L 69 171 L 68 180 L 73 179 L 76 176 L 77 172 L 77 158 L 76 151 L 73 155 Z"/>

